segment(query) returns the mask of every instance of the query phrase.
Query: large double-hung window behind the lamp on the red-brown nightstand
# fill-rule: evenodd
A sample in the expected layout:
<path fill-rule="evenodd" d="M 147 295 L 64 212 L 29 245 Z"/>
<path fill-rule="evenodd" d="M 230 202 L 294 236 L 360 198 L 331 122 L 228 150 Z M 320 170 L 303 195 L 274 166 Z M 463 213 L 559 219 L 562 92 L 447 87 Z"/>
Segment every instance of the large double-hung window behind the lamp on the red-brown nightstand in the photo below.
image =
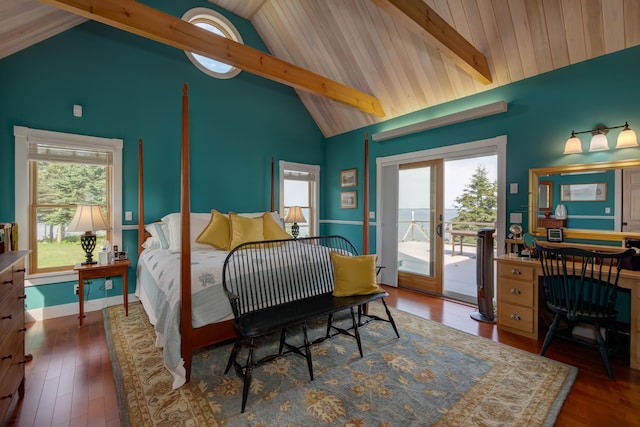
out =
<path fill-rule="evenodd" d="M 84 261 L 82 232 L 68 230 L 79 205 L 97 205 L 109 225 L 98 248 L 121 241 L 122 140 L 16 126 L 18 246 L 28 272 L 69 271 Z M 98 249 L 99 250 L 99 249 Z"/>

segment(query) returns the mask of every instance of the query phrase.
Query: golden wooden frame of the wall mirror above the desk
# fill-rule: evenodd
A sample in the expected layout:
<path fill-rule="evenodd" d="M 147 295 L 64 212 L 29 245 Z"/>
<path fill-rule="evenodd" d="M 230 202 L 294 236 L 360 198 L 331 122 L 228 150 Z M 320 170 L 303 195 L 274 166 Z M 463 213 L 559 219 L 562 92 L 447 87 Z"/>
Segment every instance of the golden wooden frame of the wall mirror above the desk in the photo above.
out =
<path fill-rule="evenodd" d="M 608 169 L 625 169 L 637 167 L 640 167 L 640 159 L 617 160 L 598 163 L 582 163 L 529 169 L 529 233 L 533 234 L 536 237 L 546 238 L 547 236 L 546 229 L 544 227 L 538 226 L 538 212 L 543 212 L 543 210 L 538 208 L 538 186 L 542 183 L 545 176 L 555 175 L 562 172 L 583 172 L 587 170 L 596 172 Z M 540 180 L 540 178 L 542 178 L 542 181 Z M 551 208 L 553 209 L 553 207 Z M 565 228 L 563 232 L 563 236 L 565 239 L 569 238 L 600 241 L 608 240 L 620 241 L 622 243 L 622 240 L 625 237 L 640 238 L 640 232 L 588 230 L 577 228 Z"/>

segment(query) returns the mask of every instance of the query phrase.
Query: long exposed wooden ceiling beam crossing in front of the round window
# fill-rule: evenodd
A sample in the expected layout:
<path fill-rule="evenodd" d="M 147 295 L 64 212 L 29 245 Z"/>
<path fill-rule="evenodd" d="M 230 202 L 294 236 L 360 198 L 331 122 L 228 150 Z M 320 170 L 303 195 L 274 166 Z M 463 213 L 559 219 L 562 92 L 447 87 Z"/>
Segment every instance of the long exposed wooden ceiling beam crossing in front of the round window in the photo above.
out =
<path fill-rule="evenodd" d="M 374 96 L 132 0 L 40 0 L 76 15 L 384 117 Z"/>

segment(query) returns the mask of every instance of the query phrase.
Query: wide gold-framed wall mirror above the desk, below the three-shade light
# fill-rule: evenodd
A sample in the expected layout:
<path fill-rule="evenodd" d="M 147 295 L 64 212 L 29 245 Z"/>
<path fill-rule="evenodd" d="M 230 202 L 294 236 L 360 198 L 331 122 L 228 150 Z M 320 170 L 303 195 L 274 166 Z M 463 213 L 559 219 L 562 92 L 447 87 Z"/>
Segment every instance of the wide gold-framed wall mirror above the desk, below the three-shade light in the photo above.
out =
<path fill-rule="evenodd" d="M 561 189 L 591 187 L 606 191 L 597 192 L 596 197 L 581 197 L 584 191 L 576 192 L 576 200 L 562 196 Z M 545 215 L 553 217 L 559 203 L 568 213 L 565 239 L 640 238 L 640 159 L 529 169 L 531 234 L 546 237 L 538 221 Z"/>

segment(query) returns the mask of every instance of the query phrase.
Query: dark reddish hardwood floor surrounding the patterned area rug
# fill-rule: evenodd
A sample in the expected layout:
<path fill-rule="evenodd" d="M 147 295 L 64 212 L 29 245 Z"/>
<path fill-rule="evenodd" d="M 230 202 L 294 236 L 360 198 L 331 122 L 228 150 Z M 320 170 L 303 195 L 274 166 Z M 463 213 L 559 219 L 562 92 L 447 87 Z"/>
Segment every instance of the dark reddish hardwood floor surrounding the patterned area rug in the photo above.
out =
<path fill-rule="evenodd" d="M 472 320 L 474 307 L 406 289 L 387 291 L 387 302 L 400 310 L 522 350 L 540 349 L 541 341 Z M 27 365 L 26 395 L 9 425 L 120 425 L 101 312 L 88 313 L 82 328 L 76 316 L 31 323 L 26 348 L 33 354 Z M 609 381 L 596 350 L 559 341 L 551 344 L 547 356 L 579 368 L 557 425 L 640 425 L 640 371 L 614 359 L 616 381 Z"/>

